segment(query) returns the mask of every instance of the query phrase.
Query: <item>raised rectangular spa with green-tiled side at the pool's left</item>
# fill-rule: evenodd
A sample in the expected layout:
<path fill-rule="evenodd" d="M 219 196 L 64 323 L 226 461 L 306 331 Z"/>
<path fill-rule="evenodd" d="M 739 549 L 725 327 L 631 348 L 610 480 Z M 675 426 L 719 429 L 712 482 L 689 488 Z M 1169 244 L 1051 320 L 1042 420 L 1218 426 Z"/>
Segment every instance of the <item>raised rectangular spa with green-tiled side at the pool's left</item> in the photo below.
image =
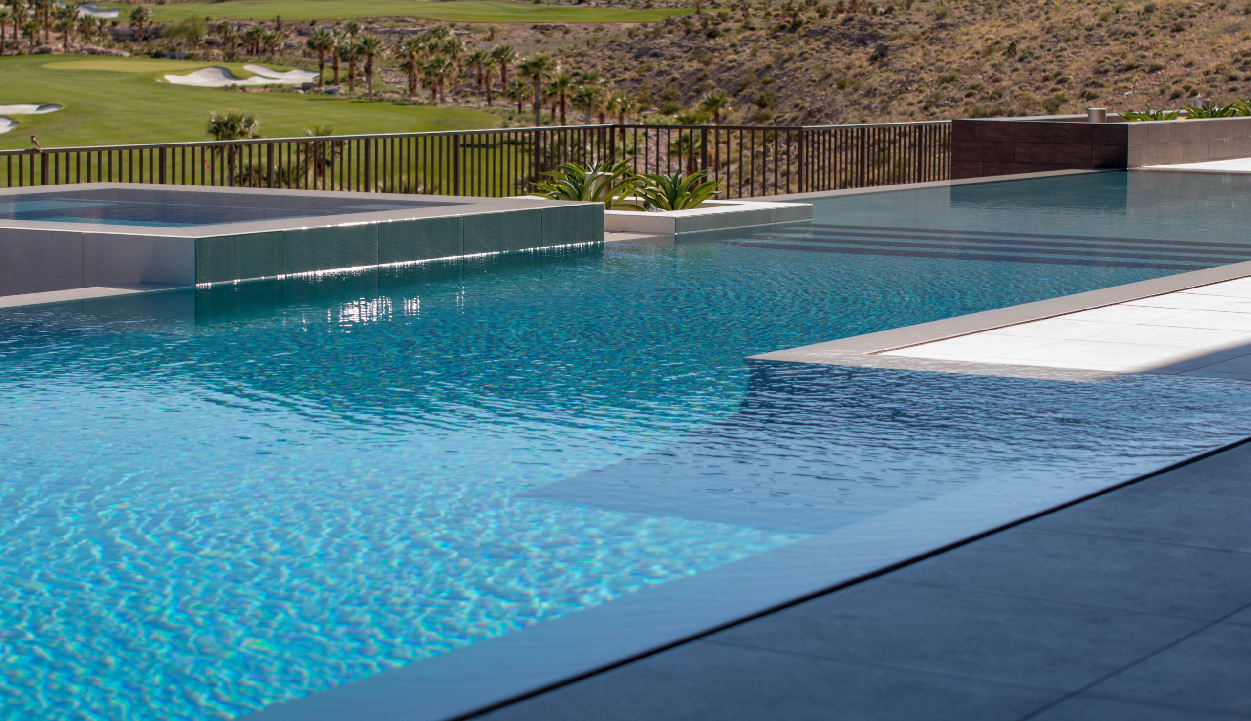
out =
<path fill-rule="evenodd" d="M 91 182 L 0 190 L 0 295 L 603 241 L 598 202 Z"/>

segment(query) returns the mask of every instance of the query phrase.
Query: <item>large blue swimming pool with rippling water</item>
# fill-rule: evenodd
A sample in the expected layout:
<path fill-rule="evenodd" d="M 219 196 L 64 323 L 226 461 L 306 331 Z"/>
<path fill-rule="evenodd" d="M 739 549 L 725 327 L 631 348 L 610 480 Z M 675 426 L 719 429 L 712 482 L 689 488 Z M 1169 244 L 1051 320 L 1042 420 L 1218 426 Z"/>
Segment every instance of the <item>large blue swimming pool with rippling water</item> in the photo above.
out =
<path fill-rule="evenodd" d="M 1243 436 L 1236 382 L 742 360 L 1251 257 L 1172 177 L 0 311 L 0 717 L 445 717 Z"/>

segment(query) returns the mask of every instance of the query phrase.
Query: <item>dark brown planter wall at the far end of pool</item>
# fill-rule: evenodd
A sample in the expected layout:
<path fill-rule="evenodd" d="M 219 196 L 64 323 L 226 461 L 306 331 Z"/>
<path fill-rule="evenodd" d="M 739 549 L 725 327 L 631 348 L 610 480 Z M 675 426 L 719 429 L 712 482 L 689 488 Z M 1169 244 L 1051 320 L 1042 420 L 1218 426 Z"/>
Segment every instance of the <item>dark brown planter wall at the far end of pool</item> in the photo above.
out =
<path fill-rule="evenodd" d="M 1085 115 L 951 121 L 951 177 L 1123 170 L 1251 156 L 1251 117 L 1107 122 Z"/>

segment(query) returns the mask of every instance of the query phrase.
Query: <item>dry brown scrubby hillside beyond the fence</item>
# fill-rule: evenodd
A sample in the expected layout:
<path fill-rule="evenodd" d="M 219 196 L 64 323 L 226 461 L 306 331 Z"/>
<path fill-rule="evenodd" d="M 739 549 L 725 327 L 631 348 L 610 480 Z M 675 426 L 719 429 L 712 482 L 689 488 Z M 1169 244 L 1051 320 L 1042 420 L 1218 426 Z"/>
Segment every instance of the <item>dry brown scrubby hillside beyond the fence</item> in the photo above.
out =
<path fill-rule="evenodd" d="M 667 111 L 721 87 L 739 122 L 1146 110 L 1251 97 L 1248 12 L 1223 1 L 737 5 L 590 34 L 560 55 Z"/>

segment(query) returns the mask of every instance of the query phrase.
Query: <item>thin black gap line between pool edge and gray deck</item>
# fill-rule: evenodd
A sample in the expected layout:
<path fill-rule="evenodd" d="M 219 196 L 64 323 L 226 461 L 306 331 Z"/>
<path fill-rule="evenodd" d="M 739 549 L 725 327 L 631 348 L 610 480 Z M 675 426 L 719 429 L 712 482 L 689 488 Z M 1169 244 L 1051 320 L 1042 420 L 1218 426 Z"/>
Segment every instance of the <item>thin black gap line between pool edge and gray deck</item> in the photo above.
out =
<path fill-rule="evenodd" d="M 1225 444 L 1222 446 L 1217 446 L 1215 449 L 1211 449 L 1211 450 L 1207 450 L 1207 451 L 1203 451 L 1203 452 L 1200 452 L 1200 454 L 1196 454 L 1196 455 L 1190 456 L 1187 459 L 1182 459 L 1182 460 L 1180 460 L 1177 462 L 1170 464 L 1170 465 L 1167 465 L 1167 466 L 1165 466 L 1162 469 L 1157 469 L 1157 470 L 1151 471 L 1148 474 L 1143 474 L 1141 476 L 1132 477 L 1132 479 L 1130 479 L 1127 481 L 1122 481 L 1120 484 L 1111 485 L 1111 486 L 1108 486 L 1106 489 L 1101 489 L 1098 491 L 1093 491 L 1091 494 L 1087 494 L 1085 496 L 1073 499 L 1071 501 L 1066 501 L 1063 504 L 1052 506 L 1050 509 L 1038 511 L 1036 514 L 1031 514 L 1031 515 L 1025 516 L 1022 519 L 1017 519 L 1016 521 L 1002 524 L 1002 525 L 996 526 L 993 529 L 990 529 L 987 531 L 982 531 L 981 534 L 975 534 L 975 535 L 968 536 L 966 539 L 962 539 L 960 541 L 953 541 L 953 542 L 947 544 L 945 546 L 940 546 L 940 547 L 933 549 L 931 551 L 926 551 L 924 554 L 919 554 L 917 556 L 912 556 L 909 559 L 904 559 L 904 560 L 898 561 L 896 564 L 891 564 L 889 566 L 884 566 L 884 567 L 878 569 L 876 571 L 871 571 L 868 574 L 863 574 L 861 576 L 856 576 L 853 579 L 848 579 L 846 581 L 834 584 L 832 586 L 828 586 L 828 587 L 818 590 L 818 591 L 813 591 L 811 594 L 804 594 L 803 596 L 798 596 L 796 599 L 791 599 L 789 601 L 786 601 L 783 604 L 778 604 L 776 606 L 769 606 L 768 609 L 763 609 L 761 611 L 757 611 L 754 614 L 743 616 L 743 617 L 737 619 L 734 621 L 729 621 L 727 624 L 719 624 L 719 625 L 713 626 L 711 629 L 706 629 L 703 631 L 699 631 L 698 634 L 692 634 L 689 636 L 684 636 L 682 639 L 677 639 L 677 640 L 669 642 L 669 644 L 664 644 L 662 646 L 657 646 L 657 647 L 651 649 L 648 651 L 643 651 L 641 654 L 634 654 L 634 655 L 627 656 L 624 659 L 619 659 L 619 660 L 617 660 L 617 661 L 614 661 L 612 664 L 605 664 L 605 665 L 598 666 L 595 669 L 589 669 L 587 671 L 583 671 L 582 674 L 575 674 L 575 675 L 569 676 L 567 679 L 562 679 L 562 680 L 552 682 L 552 684 L 545 684 L 543 686 L 539 686 L 537 689 L 532 689 L 532 690 L 525 691 L 523 694 L 518 694 L 518 695 L 512 696 L 509 699 L 495 701 L 493 704 L 488 704 L 488 705 L 480 706 L 478 709 L 474 709 L 472 711 L 467 711 L 464 714 L 459 714 L 457 716 L 450 716 L 450 717 L 445 719 L 444 721 L 465 721 L 468 719 L 474 719 L 477 716 L 482 716 L 484 714 L 489 714 L 492 711 L 497 711 L 497 710 L 503 709 L 505 706 L 510 706 L 510 705 L 517 704 L 519 701 L 524 701 L 527 699 L 533 699 L 535 696 L 547 694 L 548 691 L 554 691 L 554 690 L 560 689 L 563 686 L 568 686 L 570 684 L 575 684 L 578 681 L 582 681 L 584 679 L 589 679 L 592 676 L 597 676 L 597 675 L 603 674 L 605 671 L 612 671 L 613 669 L 619 669 L 622 666 L 626 666 L 627 664 L 633 664 L 634 661 L 638 661 L 638 660 L 642 660 L 642 659 L 647 659 L 648 656 L 654 656 L 654 655 L 661 654 L 663 651 L 668 651 L 669 649 L 674 649 L 677 646 L 682 646 L 683 644 L 688 644 L 691 641 L 697 641 L 697 640 L 706 639 L 706 637 L 708 637 L 708 636 L 711 636 L 713 634 L 717 634 L 718 631 L 724 631 L 726 629 L 732 629 L 734 626 L 743 625 L 743 624 L 746 624 L 748 621 L 753 621 L 756 619 L 761 619 L 763 616 L 768 616 L 769 614 L 774 614 L 774 612 L 781 611 L 783 609 L 789 609 L 792 606 L 798 606 L 799 604 L 803 604 L 806 601 L 811 601 L 813 599 L 819 599 L 821 596 L 826 596 L 826 595 L 832 594 L 834 591 L 839 591 L 842 589 L 847 589 L 849 586 L 854 586 L 856 584 L 862 584 L 864 581 L 868 581 L 868 580 L 872 580 L 872 579 L 877 579 L 879 576 L 884 576 L 886 574 L 889 574 L 892 571 L 897 571 L 897 570 L 903 569 L 906 566 L 911 566 L 912 564 L 917 564 L 917 562 L 923 561 L 926 559 L 932 559 L 932 557 L 934 557 L 934 556 L 937 556 L 940 554 L 945 554 L 947 551 L 951 551 L 953 549 L 958 549 L 961 546 L 965 546 L 965 545 L 971 544 L 973 541 L 977 541 L 980 539 L 985 539 L 987 536 L 992 536 L 995 534 L 998 534 L 1000 531 L 1005 531 L 1007 529 L 1012 529 L 1012 527 L 1020 526 L 1022 524 L 1033 521 L 1036 519 L 1041 519 L 1043 516 L 1048 516 L 1051 514 L 1055 514 L 1057 511 L 1062 511 L 1062 510 L 1068 509 L 1071 506 L 1076 506 L 1077 504 L 1082 504 L 1082 502 L 1088 501 L 1091 499 L 1096 499 L 1098 496 L 1102 496 L 1102 495 L 1106 495 L 1106 494 L 1111 494 L 1112 491 L 1117 491 L 1120 489 L 1123 489 L 1126 486 L 1131 486 L 1131 485 L 1137 484 L 1140 481 L 1145 481 L 1147 479 L 1152 479 L 1155 476 L 1166 474 L 1166 472 L 1172 471 L 1175 469 L 1180 469 L 1182 466 L 1193 464 L 1196 461 L 1201 461 L 1203 459 L 1215 456 L 1217 454 L 1221 454 L 1221 452 L 1236 449 L 1236 447 L 1238 447 L 1238 446 L 1241 446 L 1243 444 L 1247 444 L 1247 442 L 1251 442 L 1251 436 L 1241 439 L 1241 440 L 1237 440 L 1237 441 L 1232 441 L 1232 442 Z"/>

